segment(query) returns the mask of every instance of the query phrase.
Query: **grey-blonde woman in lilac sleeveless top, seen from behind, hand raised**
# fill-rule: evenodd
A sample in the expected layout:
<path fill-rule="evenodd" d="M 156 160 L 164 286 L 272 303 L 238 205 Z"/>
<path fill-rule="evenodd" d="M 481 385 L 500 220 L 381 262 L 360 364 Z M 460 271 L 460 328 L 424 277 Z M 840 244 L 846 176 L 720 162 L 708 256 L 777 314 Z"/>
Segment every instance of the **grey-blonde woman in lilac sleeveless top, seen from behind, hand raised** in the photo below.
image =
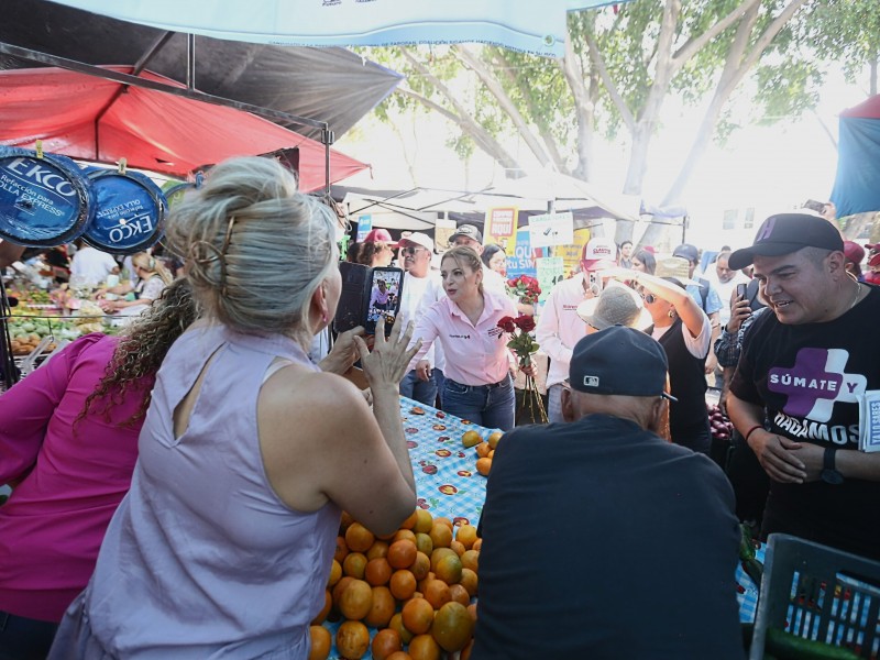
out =
<path fill-rule="evenodd" d="M 165 359 L 131 491 L 50 658 L 307 658 L 341 512 L 376 535 L 413 514 L 397 389 L 411 330 L 354 340 L 373 410 L 307 356 L 342 288 L 336 227 L 258 157 L 173 209 L 204 314 Z"/>

